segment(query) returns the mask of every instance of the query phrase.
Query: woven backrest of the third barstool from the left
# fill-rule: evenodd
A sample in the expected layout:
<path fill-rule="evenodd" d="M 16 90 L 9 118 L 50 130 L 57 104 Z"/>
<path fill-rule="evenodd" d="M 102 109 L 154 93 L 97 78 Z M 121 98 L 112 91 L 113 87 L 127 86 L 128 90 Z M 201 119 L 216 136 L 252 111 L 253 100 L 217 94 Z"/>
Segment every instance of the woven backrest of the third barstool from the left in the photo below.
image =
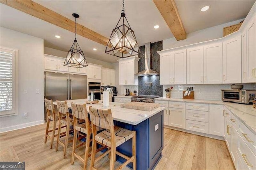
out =
<path fill-rule="evenodd" d="M 76 103 L 71 103 L 72 107 L 72 115 L 73 117 L 76 117 L 77 119 L 84 119 L 88 118 L 88 113 L 86 109 L 86 105 L 80 105 Z"/>

